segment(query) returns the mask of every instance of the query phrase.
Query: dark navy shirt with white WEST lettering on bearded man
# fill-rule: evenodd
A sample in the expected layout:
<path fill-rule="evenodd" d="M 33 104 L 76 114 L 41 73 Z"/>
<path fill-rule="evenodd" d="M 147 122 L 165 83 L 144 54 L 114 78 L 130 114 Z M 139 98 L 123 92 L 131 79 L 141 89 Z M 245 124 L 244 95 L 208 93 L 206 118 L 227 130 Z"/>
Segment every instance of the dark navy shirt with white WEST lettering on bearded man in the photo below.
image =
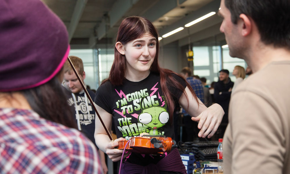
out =
<path fill-rule="evenodd" d="M 89 89 L 87 90 L 90 97 L 94 99 L 95 93 Z M 94 137 L 96 112 L 84 91 L 70 93 L 67 102 L 73 108 L 78 129 L 97 146 Z"/>

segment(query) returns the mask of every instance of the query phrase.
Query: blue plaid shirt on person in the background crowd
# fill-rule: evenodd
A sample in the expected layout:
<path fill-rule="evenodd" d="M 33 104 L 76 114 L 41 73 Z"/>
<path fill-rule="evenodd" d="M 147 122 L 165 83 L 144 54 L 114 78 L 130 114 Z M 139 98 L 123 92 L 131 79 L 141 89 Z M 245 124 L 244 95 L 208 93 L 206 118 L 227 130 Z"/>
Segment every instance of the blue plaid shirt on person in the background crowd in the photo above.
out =
<path fill-rule="evenodd" d="M 193 77 L 187 77 L 186 81 L 190 84 L 197 98 L 200 99 L 202 103 L 204 103 L 204 91 L 201 81 L 198 79 L 194 79 Z M 184 109 L 182 109 L 182 113 L 186 113 Z M 184 115 L 188 114 L 186 113 Z"/>

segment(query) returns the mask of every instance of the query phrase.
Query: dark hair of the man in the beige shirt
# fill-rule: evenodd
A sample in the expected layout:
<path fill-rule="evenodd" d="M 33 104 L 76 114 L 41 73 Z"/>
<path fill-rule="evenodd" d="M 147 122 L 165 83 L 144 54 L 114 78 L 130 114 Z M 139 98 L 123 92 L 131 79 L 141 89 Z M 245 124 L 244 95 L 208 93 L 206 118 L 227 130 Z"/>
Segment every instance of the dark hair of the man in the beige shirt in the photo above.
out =
<path fill-rule="evenodd" d="M 225 0 L 231 21 L 237 24 L 240 14 L 251 17 L 264 44 L 290 49 L 289 0 Z"/>

